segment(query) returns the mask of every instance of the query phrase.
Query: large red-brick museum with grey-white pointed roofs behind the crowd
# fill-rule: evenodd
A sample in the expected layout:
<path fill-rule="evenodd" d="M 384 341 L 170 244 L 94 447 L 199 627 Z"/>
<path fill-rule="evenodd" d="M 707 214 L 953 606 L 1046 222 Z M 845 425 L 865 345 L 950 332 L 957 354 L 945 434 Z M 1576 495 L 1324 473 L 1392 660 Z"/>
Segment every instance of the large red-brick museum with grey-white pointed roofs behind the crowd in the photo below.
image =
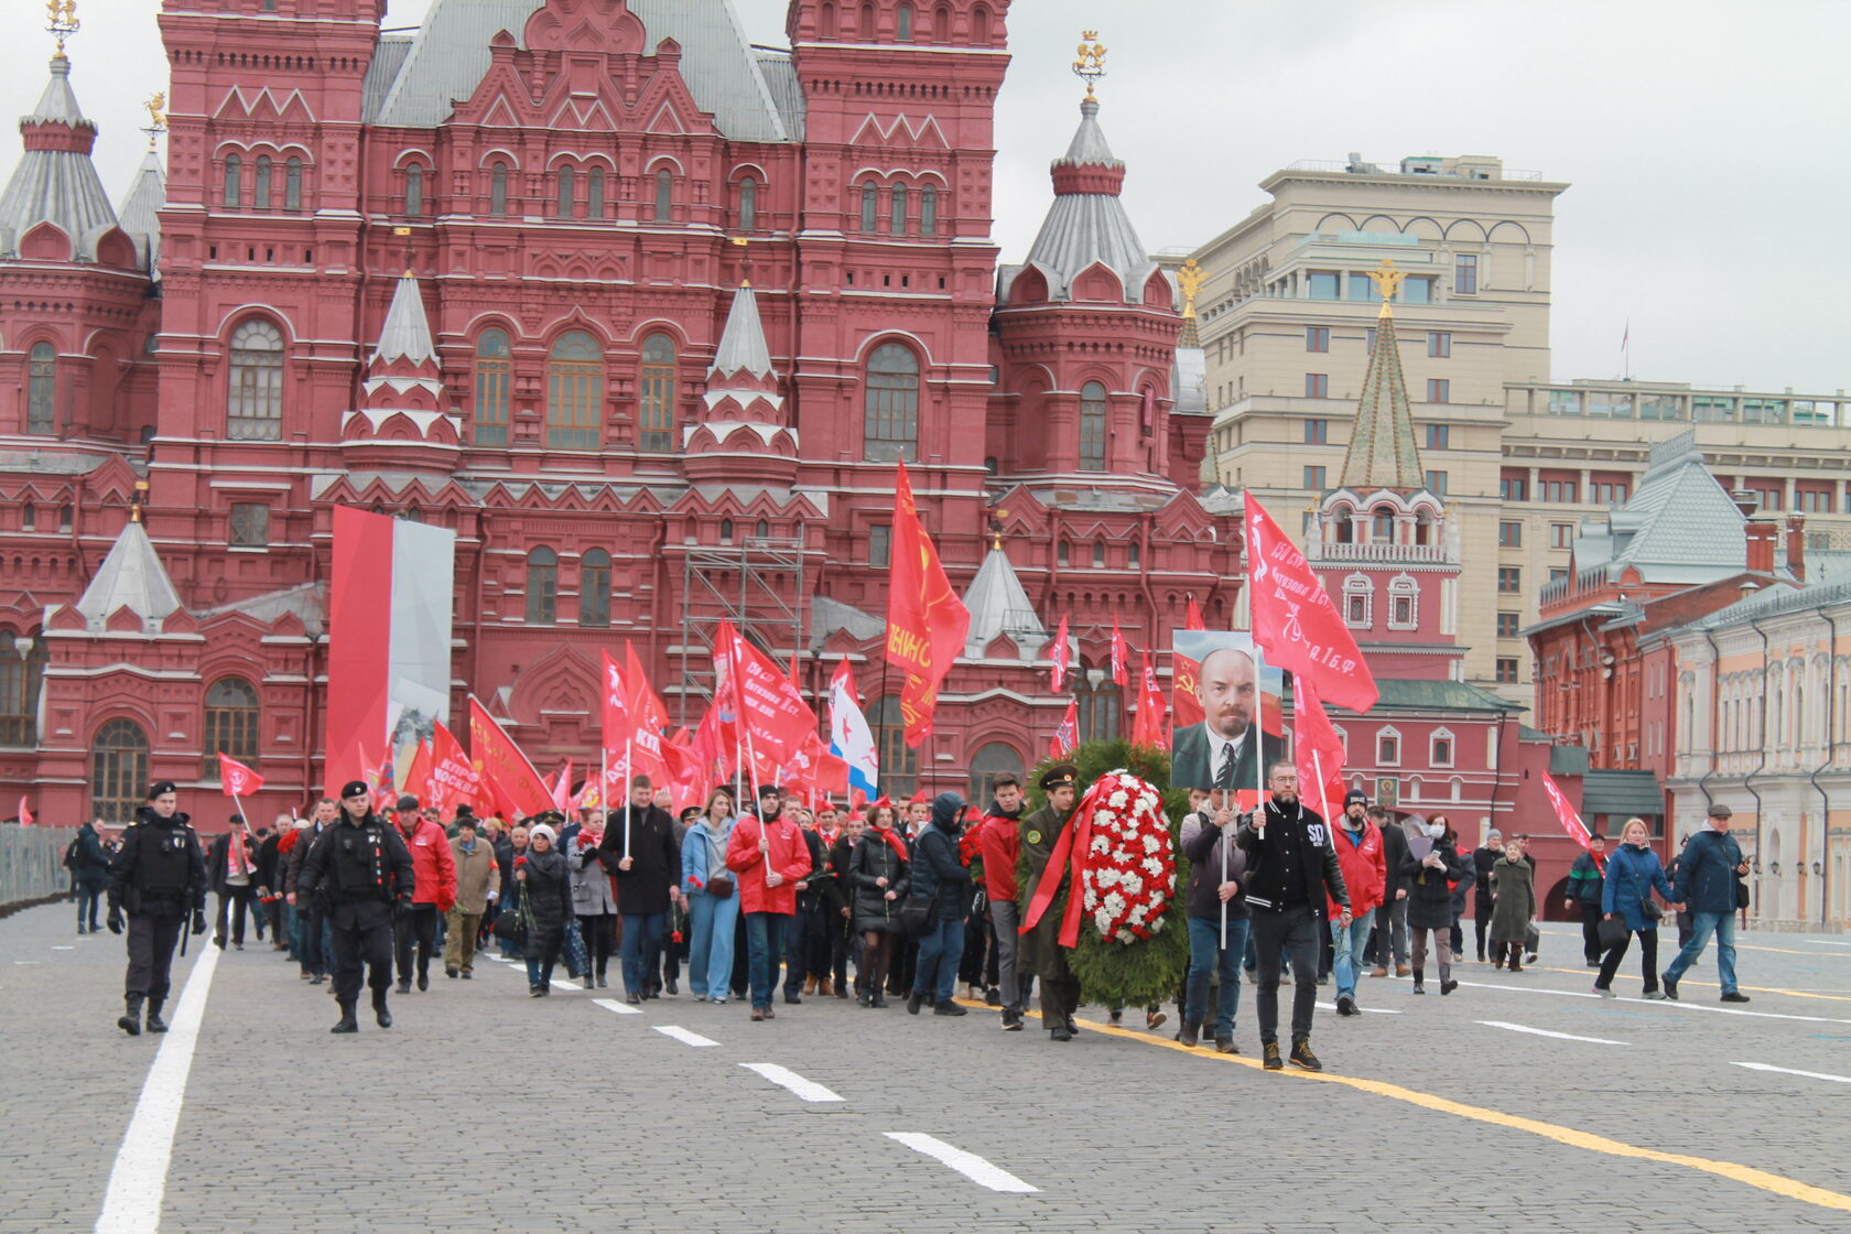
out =
<path fill-rule="evenodd" d="M 790 50 L 727 0 L 381 9 L 165 0 L 167 163 L 120 192 L 80 41 L 20 122 L 0 799 L 118 821 L 218 751 L 259 818 L 318 794 L 337 505 L 457 533 L 452 716 L 474 692 L 548 773 L 596 759 L 626 638 L 679 723 L 722 618 L 814 697 L 846 657 L 911 792 L 1042 757 L 1059 616 L 1083 736 L 1124 720 L 1114 614 L 1151 651 L 1190 596 L 1229 623 L 1194 324 L 1094 98 L 1000 265 L 1007 0 L 796 0 Z M 920 749 L 881 666 L 898 459 L 972 609 Z"/>

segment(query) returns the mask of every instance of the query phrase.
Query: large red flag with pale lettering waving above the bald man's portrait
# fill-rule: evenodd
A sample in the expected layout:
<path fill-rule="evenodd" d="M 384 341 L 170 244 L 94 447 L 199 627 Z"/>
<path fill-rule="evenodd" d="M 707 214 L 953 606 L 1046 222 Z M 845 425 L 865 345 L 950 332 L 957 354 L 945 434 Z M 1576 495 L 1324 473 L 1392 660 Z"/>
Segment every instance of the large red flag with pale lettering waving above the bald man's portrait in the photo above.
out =
<path fill-rule="evenodd" d="M 1342 614 L 1251 490 L 1246 507 L 1253 640 L 1268 662 L 1314 677 L 1323 697 L 1366 712 L 1381 692 Z"/>

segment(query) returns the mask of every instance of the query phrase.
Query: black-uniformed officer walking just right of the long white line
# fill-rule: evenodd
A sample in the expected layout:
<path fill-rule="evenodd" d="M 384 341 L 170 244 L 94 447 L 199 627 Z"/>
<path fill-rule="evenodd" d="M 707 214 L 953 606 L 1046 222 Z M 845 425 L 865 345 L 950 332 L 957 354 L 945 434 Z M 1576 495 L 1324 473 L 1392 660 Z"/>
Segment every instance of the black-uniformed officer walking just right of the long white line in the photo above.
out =
<path fill-rule="evenodd" d="M 333 929 L 333 986 L 341 1023 L 329 1032 L 359 1032 L 359 966 L 365 958 L 372 1014 L 392 1027 L 385 992 L 392 988 L 392 918 L 411 912 L 411 849 L 396 827 L 372 812 L 365 781 L 341 788 L 341 821 L 322 831 L 302 862 L 298 897 L 320 903 Z"/>

